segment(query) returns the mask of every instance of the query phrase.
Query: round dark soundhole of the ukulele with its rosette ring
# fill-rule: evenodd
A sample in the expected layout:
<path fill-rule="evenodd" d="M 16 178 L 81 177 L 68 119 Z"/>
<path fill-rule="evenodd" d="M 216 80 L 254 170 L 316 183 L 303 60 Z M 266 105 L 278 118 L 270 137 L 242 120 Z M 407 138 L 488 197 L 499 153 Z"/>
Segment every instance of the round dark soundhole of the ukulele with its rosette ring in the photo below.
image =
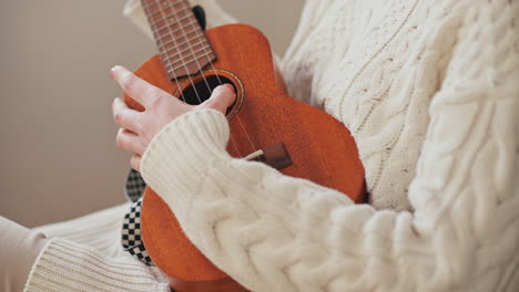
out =
<path fill-rule="evenodd" d="M 226 116 L 231 121 L 240 111 L 245 96 L 243 84 L 232 72 L 225 70 L 210 70 L 202 74 L 191 76 L 181 81 L 182 94 L 177 90 L 174 95 L 187 104 L 197 105 L 211 97 L 213 90 L 228 83 L 233 85 L 236 101 L 227 108 Z"/>

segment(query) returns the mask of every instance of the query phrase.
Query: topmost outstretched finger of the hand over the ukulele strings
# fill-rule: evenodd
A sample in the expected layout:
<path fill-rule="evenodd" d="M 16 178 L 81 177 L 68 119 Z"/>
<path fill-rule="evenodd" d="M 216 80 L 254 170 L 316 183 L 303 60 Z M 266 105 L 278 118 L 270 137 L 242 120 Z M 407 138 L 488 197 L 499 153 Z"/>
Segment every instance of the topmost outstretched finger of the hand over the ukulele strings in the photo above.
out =
<path fill-rule="evenodd" d="M 161 96 L 170 96 L 167 92 L 135 76 L 135 74 L 123 66 L 118 65 L 112 67 L 111 75 L 124 93 L 144 106 L 144 108 L 153 104 Z"/>

